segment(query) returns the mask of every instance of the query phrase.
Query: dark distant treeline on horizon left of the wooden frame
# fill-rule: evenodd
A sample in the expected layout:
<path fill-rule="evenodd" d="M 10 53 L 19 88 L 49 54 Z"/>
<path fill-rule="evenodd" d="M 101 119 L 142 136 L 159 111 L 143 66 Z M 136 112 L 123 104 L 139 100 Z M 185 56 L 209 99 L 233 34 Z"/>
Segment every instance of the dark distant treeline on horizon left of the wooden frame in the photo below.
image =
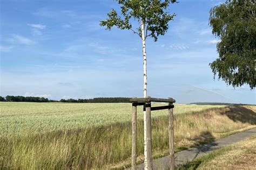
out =
<path fill-rule="evenodd" d="M 49 100 L 44 97 L 24 97 L 24 96 L 0 96 L 0 101 L 19 101 L 19 102 L 65 102 L 65 103 L 130 103 L 130 98 L 110 97 L 110 98 L 93 98 L 93 99 L 61 99 Z"/>

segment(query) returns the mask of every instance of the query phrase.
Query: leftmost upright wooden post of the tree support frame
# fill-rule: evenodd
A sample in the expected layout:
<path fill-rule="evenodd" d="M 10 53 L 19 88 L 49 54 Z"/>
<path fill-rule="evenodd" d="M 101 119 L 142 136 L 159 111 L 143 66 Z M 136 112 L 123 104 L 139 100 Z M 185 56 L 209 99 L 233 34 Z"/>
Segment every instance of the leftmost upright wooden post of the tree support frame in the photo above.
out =
<path fill-rule="evenodd" d="M 136 169 L 137 103 L 132 104 L 132 170 Z"/>

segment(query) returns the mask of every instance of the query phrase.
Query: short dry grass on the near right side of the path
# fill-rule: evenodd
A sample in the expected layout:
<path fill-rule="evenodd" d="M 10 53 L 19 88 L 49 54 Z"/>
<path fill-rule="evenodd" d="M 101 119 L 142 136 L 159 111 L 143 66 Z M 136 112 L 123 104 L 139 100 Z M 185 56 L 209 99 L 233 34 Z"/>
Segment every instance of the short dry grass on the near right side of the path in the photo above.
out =
<path fill-rule="evenodd" d="M 256 135 L 213 151 L 177 169 L 255 169 Z"/>

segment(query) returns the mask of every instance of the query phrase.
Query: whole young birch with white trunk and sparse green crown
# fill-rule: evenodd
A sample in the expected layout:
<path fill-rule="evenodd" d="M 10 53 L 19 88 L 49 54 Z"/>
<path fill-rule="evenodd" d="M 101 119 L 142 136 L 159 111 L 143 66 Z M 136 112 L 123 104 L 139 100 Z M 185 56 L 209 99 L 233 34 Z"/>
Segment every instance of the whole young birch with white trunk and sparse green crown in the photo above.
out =
<path fill-rule="evenodd" d="M 176 16 L 170 14 L 168 7 L 176 0 L 116 0 L 120 5 L 120 15 L 111 9 L 107 16 L 109 18 L 100 21 L 100 26 L 106 26 L 106 30 L 111 30 L 113 26 L 119 29 L 131 30 L 142 39 L 143 50 L 143 96 L 147 97 L 147 59 L 146 59 L 146 38 L 152 37 L 156 42 L 159 35 L 164 35 L 169 28 L 169 21 Z M 138 22 L 138 27 L 132 24 Z M 136 24 L 137 25 L 137 24 Z M 146 152 L 146 113 L 144 112 L 144 151 Z M 146 154 L 145 155 L 145 165 Z"/>

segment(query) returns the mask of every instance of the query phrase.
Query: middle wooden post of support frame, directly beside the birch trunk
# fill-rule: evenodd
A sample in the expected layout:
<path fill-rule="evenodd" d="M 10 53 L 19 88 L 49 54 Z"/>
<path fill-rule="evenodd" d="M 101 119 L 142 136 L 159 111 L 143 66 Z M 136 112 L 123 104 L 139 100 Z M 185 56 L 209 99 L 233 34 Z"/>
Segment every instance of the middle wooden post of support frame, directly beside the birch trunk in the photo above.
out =
<path fill-rule="evenodd" d="M 146 144 L 147 144 L 147 167 L 145 169 L 152 169 L 152 141 L 151 141 L 151 103 L 146 103 Z"/>

